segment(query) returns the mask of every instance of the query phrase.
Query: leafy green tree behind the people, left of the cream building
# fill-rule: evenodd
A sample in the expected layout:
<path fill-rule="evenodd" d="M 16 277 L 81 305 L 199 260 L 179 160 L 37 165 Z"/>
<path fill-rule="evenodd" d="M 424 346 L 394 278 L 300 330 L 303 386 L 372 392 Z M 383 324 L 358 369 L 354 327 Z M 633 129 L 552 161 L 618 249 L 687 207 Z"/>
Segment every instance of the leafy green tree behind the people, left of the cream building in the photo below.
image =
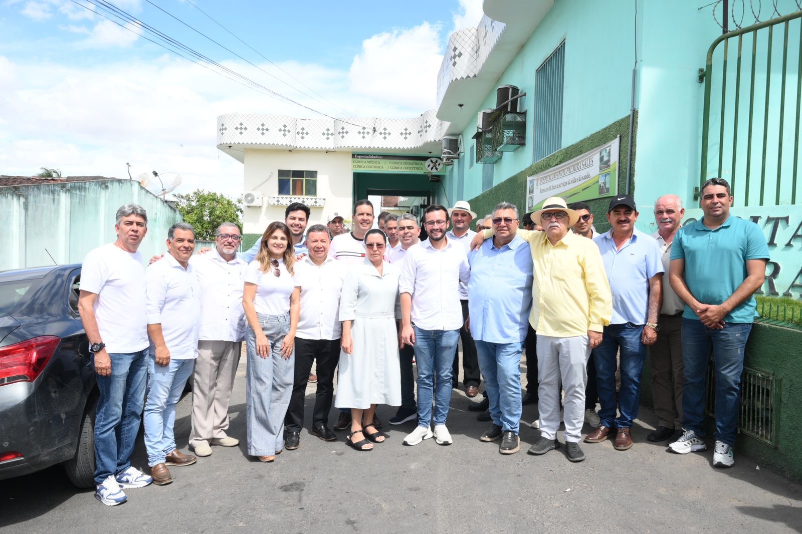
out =
<path fill-rule="evenodd" d="M 176 208 L 184 217 L 184 222 L 195 229 L 196 239 L 212 241 L 214 231 L 224 222 L 233 222 L 242 229 L 242 208 L 239 201 L 203 189 L 175 197 Z"/>

